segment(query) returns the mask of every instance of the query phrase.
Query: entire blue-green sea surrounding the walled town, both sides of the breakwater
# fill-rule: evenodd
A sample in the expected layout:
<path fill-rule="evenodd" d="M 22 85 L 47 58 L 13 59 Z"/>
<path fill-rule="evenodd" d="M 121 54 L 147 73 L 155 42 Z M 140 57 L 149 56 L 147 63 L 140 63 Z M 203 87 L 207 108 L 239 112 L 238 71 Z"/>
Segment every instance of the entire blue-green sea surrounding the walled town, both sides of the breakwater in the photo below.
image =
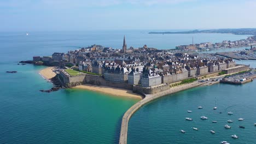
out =
<path fill-rule="evenodd" d="M 246 39 L 234 34 L 148 34 L 149 31 L 0 32 L 0 143 L 118 143 L 123 114 L 139 99 L 81 89 L 43 93 L 53 85 L 38 74 L 44 66 L 18 65 L 98 44 L 174 49 L 177 45 Z M 28 35 L 26 35 L 28 33 Z M 246 47 L 234 48 L 243 50 Z M 234 51 L 233 49 L 230 49 Z M 215 52 L 223 51 L 222 49 Z M 208 51 L 214 52 L 214 51 Z M 237 61 L 256 68 L 256 61 Z M 9 74 L 5 71 L 16 70 Z M 152 101 L 130 119 L 128 143 L 256 143 L 256 85 L 197 87 Z M 215 105 L 217 110 L 212 110 Z M 198 110 L 197 106 L 203 106 Z M 187 113 L 187 110 L 193 112 Z M 234 115 L 229 116 L 227 112 Z M 222 113 L 220 113 L 222 112 Z M 207 116 L 202 121 L 200 116 Z M 185 117 L 193 121 L 185 121 Z M 238 118 L 245 118 L 238 122 Z M 231 129 L 224 129 L 231 119 Z M 218 121 L 212 123 L 211 121 Z M 245 129 L 238 128 L 245 126 Z M 199 128 L 198 131 L 191 127 Z M 185 130 L 182 134 L 179 130 Z M 216 131 L 211 134 L 210 130 Z M 234 140 L 230 135 L 236 134 Z"/>

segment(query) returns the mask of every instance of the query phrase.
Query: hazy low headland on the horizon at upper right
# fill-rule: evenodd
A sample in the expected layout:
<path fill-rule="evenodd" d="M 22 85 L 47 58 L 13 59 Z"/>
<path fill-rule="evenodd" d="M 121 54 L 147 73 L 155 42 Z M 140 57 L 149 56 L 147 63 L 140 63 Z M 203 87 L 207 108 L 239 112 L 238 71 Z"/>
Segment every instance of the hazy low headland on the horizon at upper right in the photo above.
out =
<path fill-rule="evenodd" d="M 256 35 L 256 28 L 239 28 L 239 29 L 207 29 L 207 30 L 193 30 L 183 32 L 149 32 L 149 34 L 192 34 L 192 33 L 231 33 L 239 35 Z"/>

